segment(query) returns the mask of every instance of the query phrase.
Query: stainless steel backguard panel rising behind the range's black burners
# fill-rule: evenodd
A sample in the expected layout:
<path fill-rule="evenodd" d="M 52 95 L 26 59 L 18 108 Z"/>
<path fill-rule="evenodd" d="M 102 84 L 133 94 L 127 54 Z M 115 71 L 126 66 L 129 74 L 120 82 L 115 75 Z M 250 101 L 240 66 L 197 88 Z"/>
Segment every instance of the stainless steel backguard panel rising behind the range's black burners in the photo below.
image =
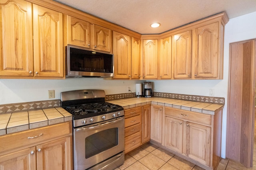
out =
<path fill-rule="evenodd" d="M 60 93 L 62 102 L 79 99 L 105 98 L 104 90 L 73 90 Z"/>

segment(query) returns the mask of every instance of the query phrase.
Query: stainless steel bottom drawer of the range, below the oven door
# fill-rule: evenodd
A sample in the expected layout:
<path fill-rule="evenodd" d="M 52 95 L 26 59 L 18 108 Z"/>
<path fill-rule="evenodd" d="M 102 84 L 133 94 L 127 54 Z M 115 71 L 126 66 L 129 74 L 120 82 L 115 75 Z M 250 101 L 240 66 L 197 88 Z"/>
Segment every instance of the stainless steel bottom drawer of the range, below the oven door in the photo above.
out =
<path fill-rule="evenodd" d="M 105 160 L 104 162 L 101 162 L 100 164 L 97 164 L 93 166 L 92 168 L 89 168 L 88 170 L 113 170 L 116 167 L 122 165 L 124 163 L 124 152 L 121 152 L 120 154 L 117 154 L 108 160 Z"/>

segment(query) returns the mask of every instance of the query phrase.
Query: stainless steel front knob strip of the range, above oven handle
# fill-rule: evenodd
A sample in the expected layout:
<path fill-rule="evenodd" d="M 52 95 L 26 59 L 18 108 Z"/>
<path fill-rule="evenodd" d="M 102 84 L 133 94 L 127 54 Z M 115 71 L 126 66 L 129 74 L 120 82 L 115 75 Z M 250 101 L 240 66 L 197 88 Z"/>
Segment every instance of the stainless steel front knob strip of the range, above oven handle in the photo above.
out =
<path fill-rule="evenodd" d="M 124 111 L 121 110 L 121 111 L 116 111 L 116 112 L 112 112 L 112 113 L 108 113 L 108 114 L 105 114 L 105 115 L 98 115 L 98 116 L 94 116 L 94 117 L 87 117 L 87 118 L 83 118 L 83 119 L 76 119 L 76 120 L 73 120 L 73 124 L 74 124 L 74 127 L 79 127 L 79 126 L 82 126 L 82 125 L 90 125 L 92 124 L 92 122 L 90 121 L 90 119 L 93 119 L 94 122 L 101 122 L 102 120 L 110 120 L 110 119 L 113 119 L 113 114 L 117 114 L 118 112 L 120 112 L 120 116 L 123 116 L 124 115 Z M 85 124 L 84 124 L 85 122 Z"/>

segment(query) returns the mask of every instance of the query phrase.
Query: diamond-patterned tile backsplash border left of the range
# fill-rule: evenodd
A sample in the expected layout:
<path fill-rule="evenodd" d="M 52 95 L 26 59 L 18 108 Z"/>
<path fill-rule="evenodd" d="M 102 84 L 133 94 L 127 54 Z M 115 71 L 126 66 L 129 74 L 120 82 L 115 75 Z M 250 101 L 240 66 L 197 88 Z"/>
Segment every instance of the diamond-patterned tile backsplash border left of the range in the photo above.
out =
<path fill-rule="evenodd" d="M 60 100 L 45 100 L 45 101 L 38 101 L 38 102 L 3 104 L 3 105 L 0 105 L 0 114 L 10 113 L 13 111 L 24 111 L 24 110 L 30 110 L 30 109 L 47 108 L 47 107 L 60 107 Z"/>

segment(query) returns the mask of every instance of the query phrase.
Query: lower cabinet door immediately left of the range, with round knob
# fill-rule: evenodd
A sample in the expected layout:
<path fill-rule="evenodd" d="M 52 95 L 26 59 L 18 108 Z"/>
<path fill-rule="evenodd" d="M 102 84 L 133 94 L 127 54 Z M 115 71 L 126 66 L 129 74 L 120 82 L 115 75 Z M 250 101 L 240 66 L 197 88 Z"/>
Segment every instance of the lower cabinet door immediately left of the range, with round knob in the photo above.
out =
<path fill-rule="evenodd" d="M 70 170 L 70 137 L 37 145 L 37 170 Z"/>

